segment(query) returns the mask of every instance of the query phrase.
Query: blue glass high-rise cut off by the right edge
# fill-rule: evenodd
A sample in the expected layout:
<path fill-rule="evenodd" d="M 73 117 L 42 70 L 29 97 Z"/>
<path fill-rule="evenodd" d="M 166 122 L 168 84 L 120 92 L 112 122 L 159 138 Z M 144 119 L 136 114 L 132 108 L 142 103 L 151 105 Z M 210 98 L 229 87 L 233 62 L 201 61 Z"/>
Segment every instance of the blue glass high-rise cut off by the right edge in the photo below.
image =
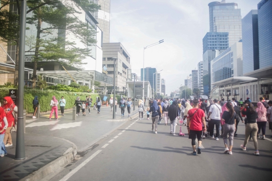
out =
<path fill-rule="evenodd" d="M 258 4 L 259 68 L 272 66 L 272 1 Z"/>

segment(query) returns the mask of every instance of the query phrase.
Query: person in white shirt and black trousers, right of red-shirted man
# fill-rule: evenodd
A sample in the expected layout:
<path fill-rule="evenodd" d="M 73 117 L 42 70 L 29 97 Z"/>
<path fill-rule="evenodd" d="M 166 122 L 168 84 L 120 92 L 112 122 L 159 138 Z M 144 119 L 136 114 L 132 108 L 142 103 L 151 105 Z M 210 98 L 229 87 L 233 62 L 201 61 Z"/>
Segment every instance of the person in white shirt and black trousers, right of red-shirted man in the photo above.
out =
<path fill-rule="evenodd" d="M 221 113 L 222 113 L 222 108 L 218 104 L 218 99 L 215 99 L 214 104 L 211 105 L 211 107 L 210 107 L 207 119 L 209 119 L 210 116 L 211 116 L 211 121 L 210 121 L 210 125 L 209 125 L 209 126 L 211 126 L 209 128 L 210 138 L 215 138 L 214 137 L 214 128 L 216 126 L 216 140 L 219 140 L 219 134 L 220 134 L 219 133 L 219 128 L 220 128 L 220 122 L 221 122 L 220 114 Z"/>

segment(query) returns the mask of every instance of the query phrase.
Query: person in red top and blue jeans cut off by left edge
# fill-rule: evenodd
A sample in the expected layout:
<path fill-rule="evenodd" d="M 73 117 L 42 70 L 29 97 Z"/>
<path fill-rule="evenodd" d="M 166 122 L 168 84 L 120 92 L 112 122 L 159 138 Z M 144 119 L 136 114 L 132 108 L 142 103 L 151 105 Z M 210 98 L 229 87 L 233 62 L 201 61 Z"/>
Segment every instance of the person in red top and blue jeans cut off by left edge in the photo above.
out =
<path fill-rule="evenodd" d="M 7 154 L 7 150 L 5 148 L 4 143 L 4 137 L 5 137 L 5 131 L 8 128 L 8 120 L 7 115 L 2 107 L 0 107 L 0 152 L 1 157 L 5 156 Z"/>

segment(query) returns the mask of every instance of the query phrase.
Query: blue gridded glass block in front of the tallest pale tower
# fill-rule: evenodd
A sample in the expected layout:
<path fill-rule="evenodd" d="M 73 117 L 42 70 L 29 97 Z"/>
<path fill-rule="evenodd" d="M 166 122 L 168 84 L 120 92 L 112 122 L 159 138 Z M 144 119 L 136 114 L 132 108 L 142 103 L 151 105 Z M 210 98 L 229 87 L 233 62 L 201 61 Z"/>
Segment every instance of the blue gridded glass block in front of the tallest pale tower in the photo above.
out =
<path fill-rule="evenodd" d="M 207 50 L 226 50 L 229 48 L 229 33 L 208 32 L 202 41 L 203 54 Z"/>

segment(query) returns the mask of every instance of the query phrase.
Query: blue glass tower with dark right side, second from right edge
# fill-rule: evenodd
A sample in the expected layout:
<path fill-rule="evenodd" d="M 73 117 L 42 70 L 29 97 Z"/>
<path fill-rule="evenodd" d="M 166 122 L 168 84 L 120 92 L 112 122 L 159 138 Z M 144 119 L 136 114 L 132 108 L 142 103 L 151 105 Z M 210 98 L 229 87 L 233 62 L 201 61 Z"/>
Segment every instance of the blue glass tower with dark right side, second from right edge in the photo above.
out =
<path fill-rule="evenodd" d="M 242 19 L 243 73 L 259 69 L 258 11 L 251 10 Z"/>

